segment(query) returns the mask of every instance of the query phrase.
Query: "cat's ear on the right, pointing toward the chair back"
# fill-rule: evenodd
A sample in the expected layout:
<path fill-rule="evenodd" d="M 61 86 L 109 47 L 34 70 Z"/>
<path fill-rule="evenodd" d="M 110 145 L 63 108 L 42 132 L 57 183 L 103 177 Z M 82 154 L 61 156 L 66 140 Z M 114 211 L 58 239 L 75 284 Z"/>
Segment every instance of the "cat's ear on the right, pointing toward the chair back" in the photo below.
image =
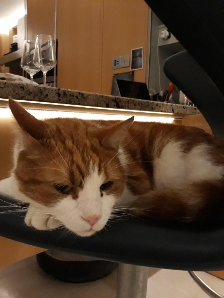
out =
<path fill-rule="evenodd" d="M 102 144 L 105 147 L 119 150 L 119 146 L 122 144 L 123 140 L 127 136 L 128 130 L 134 121 L 134 116 L 131 118 L 114 125 L 105 132 L 105 137 L 103 138 Z"/>

